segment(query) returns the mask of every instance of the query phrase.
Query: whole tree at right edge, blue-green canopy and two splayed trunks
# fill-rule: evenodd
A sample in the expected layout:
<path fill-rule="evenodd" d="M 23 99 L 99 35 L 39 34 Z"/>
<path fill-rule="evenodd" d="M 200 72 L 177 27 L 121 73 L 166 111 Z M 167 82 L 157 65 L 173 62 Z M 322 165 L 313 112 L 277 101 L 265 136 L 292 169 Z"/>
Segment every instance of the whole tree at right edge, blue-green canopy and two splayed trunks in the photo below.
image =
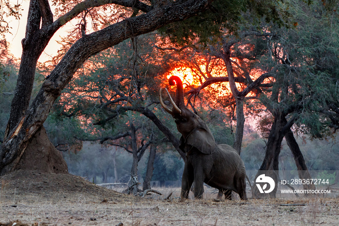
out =
<path fill-rule="evenodd" d="M 292 9 L 298 23 L 296 28 L 278 30 L 278 39 L 272 43 L 271 51 L 276 60 L 271 61 L 270 56 L 261 60 L 278 64 L 279 68 L 272 87 L 262 90 L 268 93 L 261 96 L 261 102 L 274 119 L 257 176 L 270 170 L 271 177 L 276 179 L 283 137 L 293 153 L 299 177 L 310 178 L 291 130 L 293 125 L 303 134 L 322 138 L 329 135 L 329 128 L 337 129 L 339 122 L 336 88 L 339 43 L 334 38 L 338 26 L 332 27 L 338 23 L 338 17 L 330 19 L 318 2 L 312 5 L 294 3 Z M 309 188 L 304 186 L 304 189 Z M 259 194 L 258 191 L 254 193 Z M 275 192 L 271 195 L 275 196 Z"/>

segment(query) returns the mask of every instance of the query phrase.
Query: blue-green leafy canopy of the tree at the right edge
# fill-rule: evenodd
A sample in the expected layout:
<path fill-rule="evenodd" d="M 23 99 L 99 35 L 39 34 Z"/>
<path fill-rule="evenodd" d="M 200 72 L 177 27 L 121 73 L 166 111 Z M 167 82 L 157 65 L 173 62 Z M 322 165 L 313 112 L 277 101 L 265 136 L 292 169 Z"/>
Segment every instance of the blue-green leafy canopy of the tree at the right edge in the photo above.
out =
<path fill-rule="evenodd" d="M 262 70 L 275 74 L 260 101 L 271 112 L 287 115 L 287 120 L 296 118 L 298 131 L 326 137 L 329 126 L 338 122 L 339 18 L 326 14 L 319 1 L 291 0 L 289 11 L 295 27 L 272 26 L 270 51 L 257 58 Z"/>

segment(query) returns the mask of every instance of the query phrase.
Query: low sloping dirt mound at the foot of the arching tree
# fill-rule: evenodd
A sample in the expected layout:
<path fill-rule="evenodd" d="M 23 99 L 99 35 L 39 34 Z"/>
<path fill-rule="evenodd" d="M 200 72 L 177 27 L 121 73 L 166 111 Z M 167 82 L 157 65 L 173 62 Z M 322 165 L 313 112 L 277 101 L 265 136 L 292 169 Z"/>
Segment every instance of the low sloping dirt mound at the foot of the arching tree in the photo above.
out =
<path fill-rule="evenodd" d="M 129 200 L 135 199 L 107 188 L 97 186 L 84 178 L 71 174 L 39 173 L 37 171 L 17 170 L 0 177 L 1 199 L 8 197 L 16 199 L 31 197 L 40 201 L 74 201 L 83 197 L 88 201 L 98 200 Z"/>

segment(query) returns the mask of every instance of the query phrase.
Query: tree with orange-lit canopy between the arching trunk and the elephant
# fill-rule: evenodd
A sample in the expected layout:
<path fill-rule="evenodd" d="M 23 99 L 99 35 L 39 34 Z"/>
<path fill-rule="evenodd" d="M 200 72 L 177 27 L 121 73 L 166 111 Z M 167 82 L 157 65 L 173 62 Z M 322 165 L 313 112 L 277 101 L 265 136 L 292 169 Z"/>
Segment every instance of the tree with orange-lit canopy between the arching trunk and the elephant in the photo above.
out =
<path fill-rule="evenodd" d="M 154 34 L 135 37 L 91 58 L 75 74 L 53 108 L 53 114 L 57 114 L 61 120 L 79 121 L 82 130 L 92 131 L 92 134 L 85 134 L 84 131 L 77 133 L 73 129 L 74 134 L 79 134 L 79 140 L 100 140 L 102 144 L 105 142 L 120 146 L 131 153 L 132 178 L 137 178 L 138 162 L 148 146 L 166 138 L 156 131 L 154 123 L 148 118 L 155 121 L 158 128 L 168 131 L 170 138 L 176 141 L 165 126 L 166 121 L 161 122 L 156 115 L 162 113 L 156 110 L 158 100 L 154 80 L 157 80 L 158 74 L 154 74 L 154 71 L 160 66 L 154 60 L 159 60 L 159 57 L 150 46 L 153 39 Z M 68 42 L 65 48 L 67 45 Z M 58 57 L 46 64 L 47 70 L 48 65 L 53 64 Z M 155 148 L 156 145 L 150 148 L 144 187 L 150 186 L 147 181 L 152 178 Z M 136 193 L 138 185 L 133 187 Z"/>

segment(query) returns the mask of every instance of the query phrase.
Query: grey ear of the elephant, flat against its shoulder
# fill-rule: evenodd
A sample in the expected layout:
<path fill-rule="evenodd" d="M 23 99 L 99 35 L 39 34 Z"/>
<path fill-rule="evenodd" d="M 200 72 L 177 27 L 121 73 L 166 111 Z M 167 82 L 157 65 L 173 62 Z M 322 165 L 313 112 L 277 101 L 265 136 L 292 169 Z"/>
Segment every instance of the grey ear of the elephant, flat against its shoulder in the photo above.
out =
<path fill-rule="evenodd" d="M 205 129 L 196 129 L 186 138 L 186 145 L 191 145 L 204 154 L 215 152 L 216 141 L 212 134 Z"/>

